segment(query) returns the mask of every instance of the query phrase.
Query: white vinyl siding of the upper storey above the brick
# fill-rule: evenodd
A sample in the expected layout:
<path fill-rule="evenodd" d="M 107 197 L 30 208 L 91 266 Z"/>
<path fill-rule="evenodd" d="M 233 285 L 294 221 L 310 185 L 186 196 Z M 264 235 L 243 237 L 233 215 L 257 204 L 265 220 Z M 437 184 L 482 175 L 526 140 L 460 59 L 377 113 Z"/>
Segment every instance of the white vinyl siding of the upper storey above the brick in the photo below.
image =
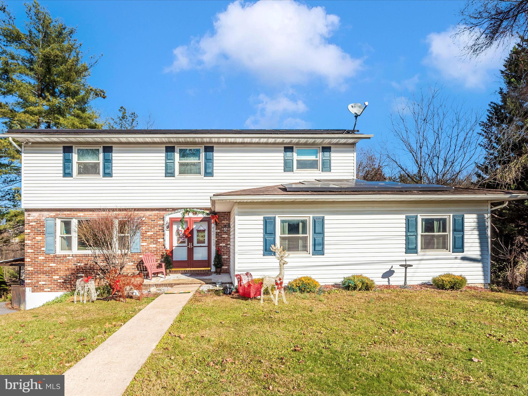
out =
<path fill-rule="evenodd" d="M 113 145 L 113 177 L 68 178 L 62 177 L 62 145 L 24 145 L 22 206 L 208 208 L 216 193 L 321 177 L 319 171 L 284 172 L 284 146 L 215 144 L 214 177 L 165 177 L 165 145 Z M 334 145 L 332 172 L 324 177 L 354 178 L 354 166 L 355 145 Z"/>

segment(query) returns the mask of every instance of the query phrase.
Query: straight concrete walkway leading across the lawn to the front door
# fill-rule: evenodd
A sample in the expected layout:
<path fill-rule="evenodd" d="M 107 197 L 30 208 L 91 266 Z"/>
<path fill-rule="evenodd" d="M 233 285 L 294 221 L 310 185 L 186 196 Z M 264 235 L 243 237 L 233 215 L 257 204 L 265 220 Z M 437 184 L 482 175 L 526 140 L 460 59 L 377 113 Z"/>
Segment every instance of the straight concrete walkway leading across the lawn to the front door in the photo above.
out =
<path fill-rule="evenodd" d="M 65 396 L 119 396 L 200 285 L 176 286 L 64 373 Z"/>

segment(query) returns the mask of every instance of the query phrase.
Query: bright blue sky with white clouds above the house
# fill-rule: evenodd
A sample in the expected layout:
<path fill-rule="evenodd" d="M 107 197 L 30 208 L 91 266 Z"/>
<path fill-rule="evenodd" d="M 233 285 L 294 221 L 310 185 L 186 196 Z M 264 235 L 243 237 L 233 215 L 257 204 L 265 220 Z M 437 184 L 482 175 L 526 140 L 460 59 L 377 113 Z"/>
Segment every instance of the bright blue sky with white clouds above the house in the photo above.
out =
<path fill-rule="evenodd" d="M 394 98 L 428 83 L 485 109 L 504 55 L 459 56 L 457 1 L 42 4 L 103 54 L 102 115 L 125 106 L 157 128 L 351 128 L 348 103 L 369 101 L 358 128 L 376 144 Z"/>

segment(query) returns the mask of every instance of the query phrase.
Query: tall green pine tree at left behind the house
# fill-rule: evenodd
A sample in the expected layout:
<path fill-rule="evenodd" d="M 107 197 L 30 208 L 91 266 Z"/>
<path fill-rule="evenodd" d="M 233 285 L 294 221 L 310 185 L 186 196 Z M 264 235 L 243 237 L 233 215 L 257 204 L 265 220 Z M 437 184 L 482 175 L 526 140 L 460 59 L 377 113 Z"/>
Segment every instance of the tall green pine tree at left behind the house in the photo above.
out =
<path fill-rule="evenodd" d="M 87 80 L 99 58 L 88 61 L 75 38 L 76 29 L 53 20 L 39 3 L 25 4 L 17 26 L 0 4 L 0 121 L 7 128 L 98 128 L 90 106 L 105 91 Z M 20 153 L 0 139 L 0 202 L 20 207 Z"/>

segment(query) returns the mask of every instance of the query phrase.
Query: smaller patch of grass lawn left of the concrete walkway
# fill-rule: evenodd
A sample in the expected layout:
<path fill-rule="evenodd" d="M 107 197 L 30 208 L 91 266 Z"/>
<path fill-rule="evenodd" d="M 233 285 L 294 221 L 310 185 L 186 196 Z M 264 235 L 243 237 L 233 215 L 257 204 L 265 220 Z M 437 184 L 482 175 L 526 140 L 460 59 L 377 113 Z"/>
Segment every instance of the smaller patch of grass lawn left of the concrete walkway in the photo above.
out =
<path fill-rule="evenodd" d="M 0 316 L 1 374 L 62 374 L 137 314 L 139 302 L 61 303 Z"/>

